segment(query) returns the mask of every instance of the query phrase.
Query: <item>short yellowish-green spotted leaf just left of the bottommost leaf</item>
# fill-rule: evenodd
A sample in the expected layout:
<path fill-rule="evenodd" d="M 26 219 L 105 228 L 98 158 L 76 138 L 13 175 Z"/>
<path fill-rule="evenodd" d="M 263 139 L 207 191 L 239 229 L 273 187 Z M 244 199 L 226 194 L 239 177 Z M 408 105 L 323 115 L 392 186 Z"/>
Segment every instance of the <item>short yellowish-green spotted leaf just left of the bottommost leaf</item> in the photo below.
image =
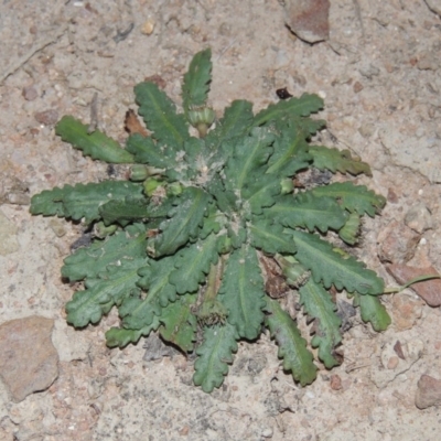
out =
<path fill-rule="evenodd" d="M 184 353 L 193 351 L 196 340 L 197 320 L 192 313 L 196 299 L 197 295 L 194 294 L 180 295 L 161 314 L 163 325 L 159 332 L 162 338 L 173 343 Z"/>

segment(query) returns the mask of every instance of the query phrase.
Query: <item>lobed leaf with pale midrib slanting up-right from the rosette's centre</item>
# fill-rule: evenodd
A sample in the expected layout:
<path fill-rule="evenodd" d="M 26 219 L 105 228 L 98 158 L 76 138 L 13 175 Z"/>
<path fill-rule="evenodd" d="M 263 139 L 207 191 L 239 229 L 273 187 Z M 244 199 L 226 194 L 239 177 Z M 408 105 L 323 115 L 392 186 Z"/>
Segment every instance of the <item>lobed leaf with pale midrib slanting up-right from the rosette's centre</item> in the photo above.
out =
<path fill-rule="evenodd" d="M 241 191 L 248 179 L 251 182 L 256 180 L 256 176 L 250 176 L 250 174 L 267 162 L 272 153 L 270 146 L 273 140 L 273 135 L 268 130 L 254 128 L 249 137 L 237 142 L 233 157 L 229 158 L 225 168 L 226 190 Z"/>

